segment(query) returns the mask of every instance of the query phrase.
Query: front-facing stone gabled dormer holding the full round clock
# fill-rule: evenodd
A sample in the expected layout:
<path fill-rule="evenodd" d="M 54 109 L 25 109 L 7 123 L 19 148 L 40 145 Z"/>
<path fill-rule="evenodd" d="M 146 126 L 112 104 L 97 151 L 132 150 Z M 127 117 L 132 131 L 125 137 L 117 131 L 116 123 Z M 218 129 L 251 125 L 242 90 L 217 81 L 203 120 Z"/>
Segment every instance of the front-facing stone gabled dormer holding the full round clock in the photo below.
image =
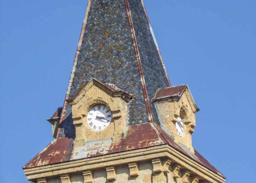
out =
<path fill-rule="evenodd" d="M 126 129 L 127 102 L 133 98 L 135 98 L 134 95 L 124 92 L 115 85 L 103 83 L 91 77 L 73 98 L 67 100 L 72 106 L 75 146 L 83 146 L 88 141 L 122 139 Z M 105 110 L 109 114 L 106 117 L 109 116 L 109 119 L 100 115 L 95 118 L 92 114 L 94 111 L 90 112 L 92 109 L 100 107 L 100 110 L 103 107 L 106 108 Z M 89 118 L 88 115 L 92 115 L 93 118 Z M 97 126 L 93 124 L 93 121 L 96 121 L 96 123 L 100 121 L 104 126 Z"/>

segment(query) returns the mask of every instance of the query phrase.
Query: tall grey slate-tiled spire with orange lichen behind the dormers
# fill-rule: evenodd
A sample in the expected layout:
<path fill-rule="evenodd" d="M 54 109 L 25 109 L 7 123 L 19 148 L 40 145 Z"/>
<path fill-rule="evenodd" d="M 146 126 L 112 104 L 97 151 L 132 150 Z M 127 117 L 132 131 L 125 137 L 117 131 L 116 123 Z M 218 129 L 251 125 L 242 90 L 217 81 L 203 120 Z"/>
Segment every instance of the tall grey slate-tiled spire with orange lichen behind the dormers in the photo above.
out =
<path fill-rule="evenodd" d="M 91 77 L 136 96 L 128 107 L 130 125 L 160 124 L 152 98 L 170 82 L 141 0 L 88 1 L 66 99 Z M 60 136 L 72 137 L 69 104 L 62 114 Z"/>

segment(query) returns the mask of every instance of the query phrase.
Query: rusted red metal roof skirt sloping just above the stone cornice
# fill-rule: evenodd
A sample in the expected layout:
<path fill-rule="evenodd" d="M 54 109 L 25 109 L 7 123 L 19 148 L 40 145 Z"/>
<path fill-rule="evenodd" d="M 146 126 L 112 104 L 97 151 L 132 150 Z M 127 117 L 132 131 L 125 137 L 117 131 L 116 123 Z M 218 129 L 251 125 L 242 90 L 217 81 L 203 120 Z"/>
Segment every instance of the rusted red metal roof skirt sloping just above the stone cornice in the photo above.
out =
<path fill-rule="evenodd" d="M 189 158 L 194 159 L 204 167 L 224 177 L 197 151 L 193 155 L 185 151 L 159 125 L 154 123 L 129 126 L 127 136 L 122 140 L 112 141 L 111 139 L 106 139 L 91 141 L 81 147 L 73 147 L 73 143 L 72 138 L 62 137 L 55 139 L 24 165 L 23 169 L 169 144 Z"/>

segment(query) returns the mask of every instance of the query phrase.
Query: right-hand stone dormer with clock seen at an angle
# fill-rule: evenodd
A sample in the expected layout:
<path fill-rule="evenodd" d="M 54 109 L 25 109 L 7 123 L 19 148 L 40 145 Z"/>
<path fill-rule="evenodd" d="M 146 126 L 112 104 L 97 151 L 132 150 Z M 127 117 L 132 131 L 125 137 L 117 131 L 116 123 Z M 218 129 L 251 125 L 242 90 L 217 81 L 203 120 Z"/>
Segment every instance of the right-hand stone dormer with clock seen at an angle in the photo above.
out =
<path fill-rule="evenodd" d="M 152 99 L 159 114 L 161 126 L 194 153 L 191 134 L 196 126 L 195 113 L 199 111 L 187 85 L 158 89 Z"/>

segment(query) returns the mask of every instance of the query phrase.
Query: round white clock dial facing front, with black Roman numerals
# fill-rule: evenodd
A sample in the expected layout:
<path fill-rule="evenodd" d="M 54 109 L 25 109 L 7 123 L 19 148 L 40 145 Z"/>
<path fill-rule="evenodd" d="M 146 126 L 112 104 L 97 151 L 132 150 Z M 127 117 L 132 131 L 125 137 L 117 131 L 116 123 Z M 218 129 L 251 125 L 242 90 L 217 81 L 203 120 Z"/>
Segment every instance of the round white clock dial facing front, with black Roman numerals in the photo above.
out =
<path fill-rule="evenodd" d="M 104 130 L 110 124 L 112 113 L 105 105 L 94 106 L 87 115 L 87 123 L 93 130 Z"/>

